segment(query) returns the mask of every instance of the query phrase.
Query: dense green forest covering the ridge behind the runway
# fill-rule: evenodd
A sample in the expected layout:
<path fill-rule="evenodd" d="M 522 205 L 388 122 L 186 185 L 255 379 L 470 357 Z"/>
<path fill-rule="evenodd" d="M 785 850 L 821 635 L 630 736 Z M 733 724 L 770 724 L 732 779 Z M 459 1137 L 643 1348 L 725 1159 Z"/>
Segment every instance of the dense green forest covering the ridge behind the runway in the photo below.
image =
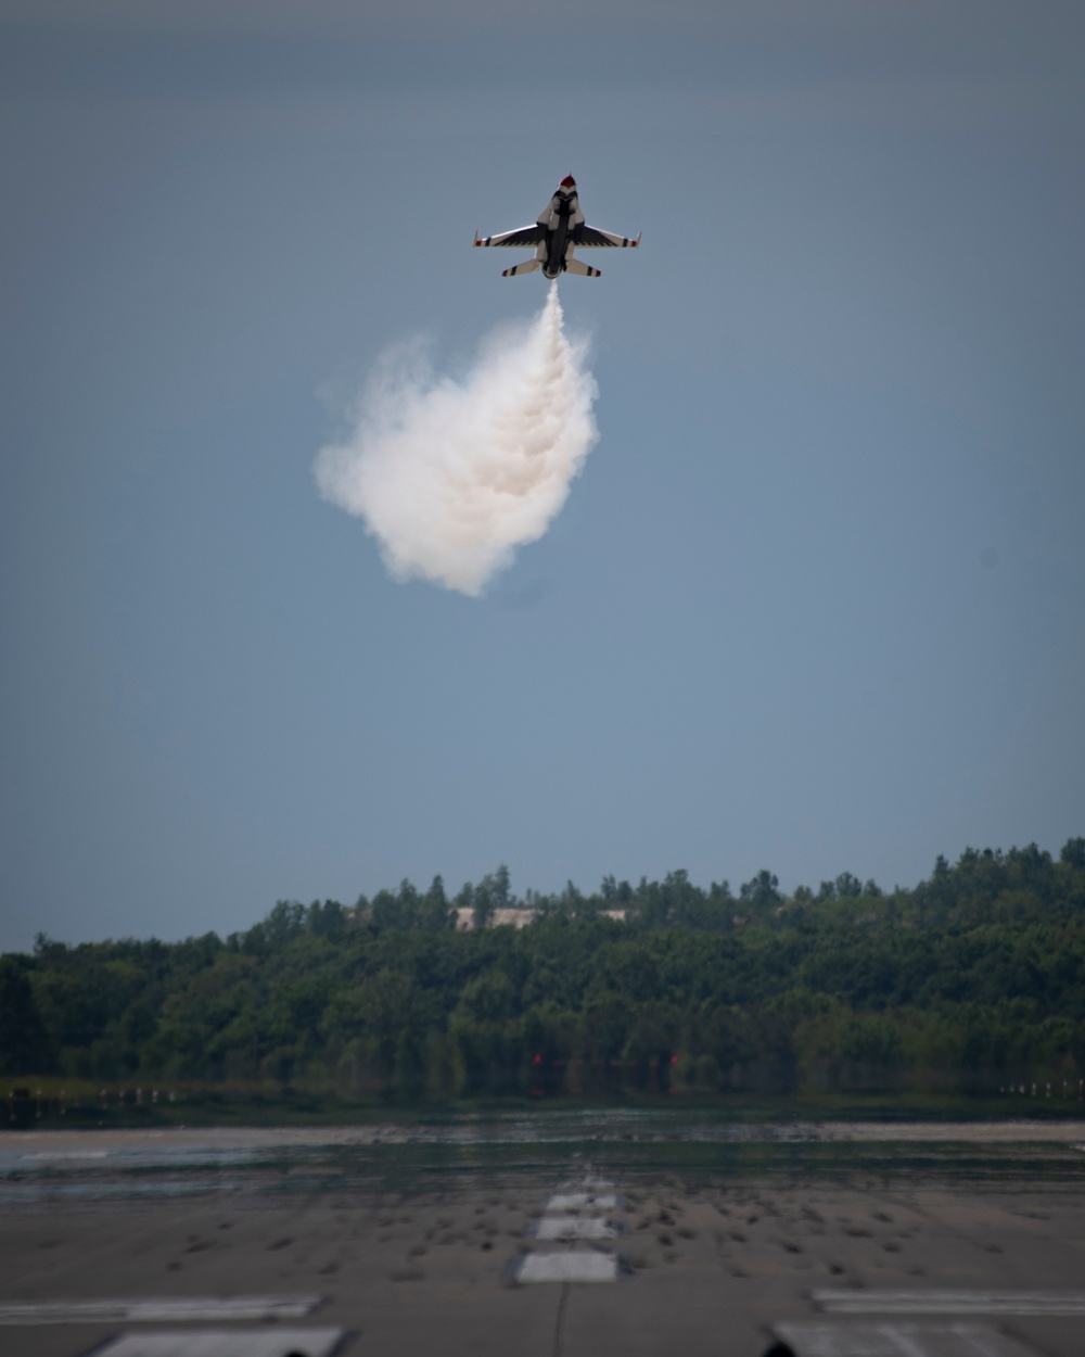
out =
<path fill-rule="evenodd" d="M 492 927 L 515 908 L 529 927 Z M 350 1098 L 1076 1090 L 1085 839 L 970 848 L 891 893 L 675 871 L 519 901 L 500 867 L 454 900 L 438 877 L 281 901 L 226 939 L 39 936 L 0 958 L 0 1072 Z"/>

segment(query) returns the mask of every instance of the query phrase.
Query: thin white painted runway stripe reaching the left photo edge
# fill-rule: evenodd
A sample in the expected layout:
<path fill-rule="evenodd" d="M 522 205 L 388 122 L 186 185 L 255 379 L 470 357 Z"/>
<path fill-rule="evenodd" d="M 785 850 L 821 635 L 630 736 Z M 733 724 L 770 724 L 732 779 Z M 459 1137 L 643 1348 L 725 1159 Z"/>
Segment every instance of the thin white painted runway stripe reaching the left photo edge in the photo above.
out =
<path fill-rule="evenodd" d="M 0 1324 L 151 1324 L 208 1319 L 302 1319 L 319 1296 L 167 1296 L 149 1300 L 27 1300 L 0 1305 Z"/>

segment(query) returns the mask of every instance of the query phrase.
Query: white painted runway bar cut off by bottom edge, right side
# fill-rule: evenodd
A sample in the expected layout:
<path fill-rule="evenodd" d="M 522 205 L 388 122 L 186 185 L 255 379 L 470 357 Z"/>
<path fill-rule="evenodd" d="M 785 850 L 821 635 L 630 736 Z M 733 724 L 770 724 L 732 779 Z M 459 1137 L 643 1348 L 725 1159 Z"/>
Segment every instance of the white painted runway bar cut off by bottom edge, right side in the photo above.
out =
<path fill-rule="evenodd" d="M 1036 1357 L 981 1324 L 773 1324 L 795 1357 Z"/>

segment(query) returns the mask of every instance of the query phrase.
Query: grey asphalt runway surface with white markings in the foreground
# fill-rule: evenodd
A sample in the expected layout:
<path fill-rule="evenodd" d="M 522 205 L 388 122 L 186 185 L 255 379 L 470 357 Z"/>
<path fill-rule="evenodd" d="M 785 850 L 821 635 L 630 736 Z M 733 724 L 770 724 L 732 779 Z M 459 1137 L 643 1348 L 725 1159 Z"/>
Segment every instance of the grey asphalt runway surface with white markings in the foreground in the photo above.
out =
<path fill-rule="evenodd" d="M 0 1352 L 1085 1352 L 1080 1124 L 629 1125 L 5 1133 Z"/>

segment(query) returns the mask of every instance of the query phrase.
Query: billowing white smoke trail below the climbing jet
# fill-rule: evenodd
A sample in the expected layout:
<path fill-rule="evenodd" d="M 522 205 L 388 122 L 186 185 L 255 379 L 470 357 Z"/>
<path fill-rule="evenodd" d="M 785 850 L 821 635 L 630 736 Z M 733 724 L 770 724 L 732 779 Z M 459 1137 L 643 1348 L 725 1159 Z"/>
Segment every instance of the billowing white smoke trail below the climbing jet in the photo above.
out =
<path fill-rule="evenodd" d="M 351 432 L 316 459 L 320 494 L 365 521 L 397 579 L 477 596 L 545 533 L 598 440 L 586 360 L 556 285 L 462 381 L 434 376 L 418 346 L 385 354 Z"/>

